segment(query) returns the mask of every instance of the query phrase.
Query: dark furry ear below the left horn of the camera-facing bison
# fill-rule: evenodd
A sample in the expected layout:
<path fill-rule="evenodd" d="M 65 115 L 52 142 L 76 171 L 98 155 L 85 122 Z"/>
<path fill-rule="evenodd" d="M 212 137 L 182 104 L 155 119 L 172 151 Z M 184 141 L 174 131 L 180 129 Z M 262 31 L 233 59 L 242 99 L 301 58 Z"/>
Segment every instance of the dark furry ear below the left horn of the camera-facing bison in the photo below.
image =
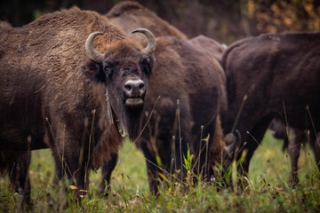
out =
<path fill-rule="evenodd" d="M 102 71 L 102 66 L 92 60 L 86 62 L 82 68 L 84 75 L 95 83 L 106 83 L 106 75 Z"/>

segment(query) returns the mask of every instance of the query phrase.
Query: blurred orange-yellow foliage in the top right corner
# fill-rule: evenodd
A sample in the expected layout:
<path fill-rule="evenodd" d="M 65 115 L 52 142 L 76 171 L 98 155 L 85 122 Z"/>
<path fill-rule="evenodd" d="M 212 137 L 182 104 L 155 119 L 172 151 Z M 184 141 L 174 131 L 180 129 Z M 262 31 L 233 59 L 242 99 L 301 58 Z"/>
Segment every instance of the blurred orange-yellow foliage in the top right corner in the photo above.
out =
<path fill-rule="evenodd" d="M 256 28 L 259 33 L 319 31 L 320 29 L 320 1 L 318 0 L 276 0 L 269 4 L 260 2 L 254 3 L 252 0 L 248 2 L 248 8 L 251 8 L 250 17 L 257 21 Z"/>

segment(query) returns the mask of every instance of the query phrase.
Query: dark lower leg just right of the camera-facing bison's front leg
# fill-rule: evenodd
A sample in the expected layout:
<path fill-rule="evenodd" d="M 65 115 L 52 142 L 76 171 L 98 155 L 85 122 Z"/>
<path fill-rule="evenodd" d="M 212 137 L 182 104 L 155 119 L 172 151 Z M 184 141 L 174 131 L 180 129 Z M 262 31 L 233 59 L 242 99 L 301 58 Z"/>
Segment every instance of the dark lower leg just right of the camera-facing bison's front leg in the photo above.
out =
<path fill-rule="evenodd" d="M 111 159 L 108 162 L 103 160 L 103 165 L 101 169 L 102 178 L 98 189 L 100 194 L 103 194 L 104 196 L 108 196 L 108 191 L 110 189 L 111 173 L 116 167 L 117 157 L 118 154 L 113 153 L 111 154 Z"/>

